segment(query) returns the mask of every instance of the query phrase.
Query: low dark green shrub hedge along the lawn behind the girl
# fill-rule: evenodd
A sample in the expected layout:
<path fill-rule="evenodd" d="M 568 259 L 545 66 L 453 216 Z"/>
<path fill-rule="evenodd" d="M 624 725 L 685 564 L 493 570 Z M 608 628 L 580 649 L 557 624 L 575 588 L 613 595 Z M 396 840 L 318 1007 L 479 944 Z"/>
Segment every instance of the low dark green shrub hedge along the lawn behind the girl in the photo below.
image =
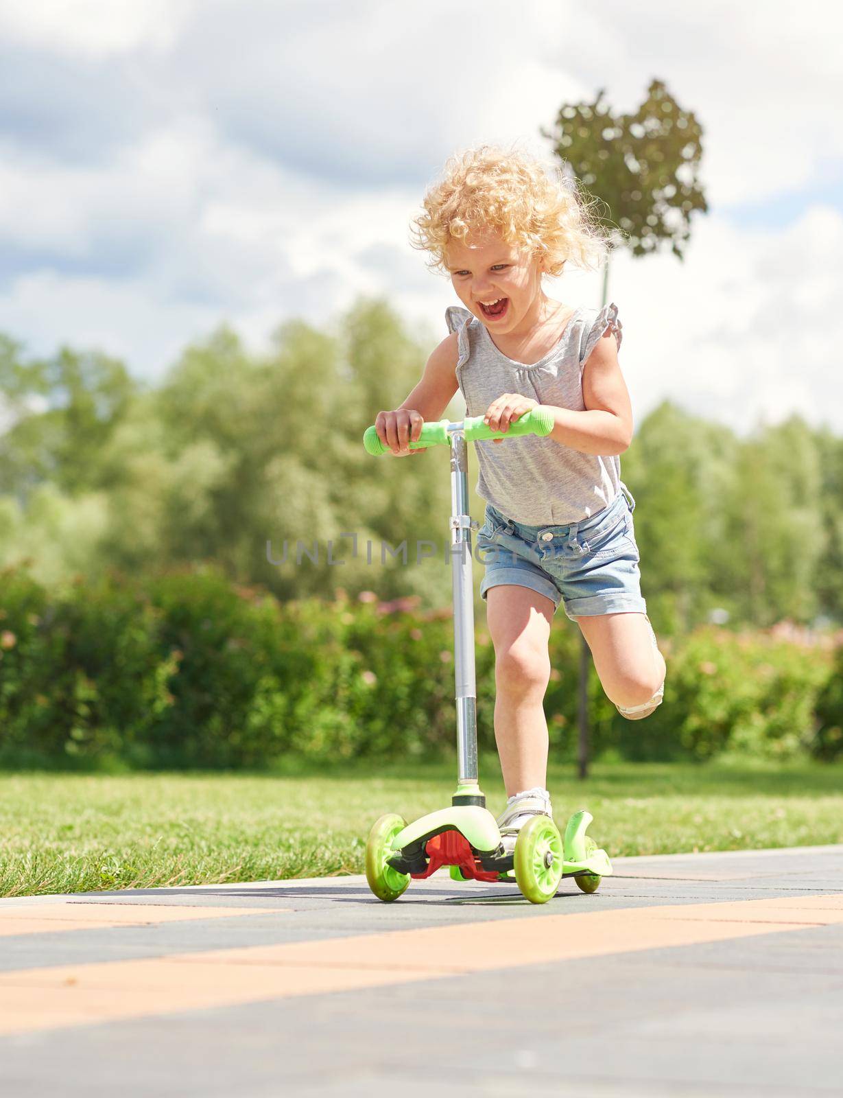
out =
<path fill-rule="evenodd" d="M 483 614 L 481 612 L 481 623 Z M 48 592 L 0 573 L 0 762 L 260 766 L 284 757 L 430 757 L 454 740 L 450 608 L 417 600 L 280 604 L 212 569 Z M 664 704 L 627 721 L 589 682 L 595 755 L 843 752 L 843 650 L 702 628 L 663 642 Z M 494 750 L 494 652 L 476 630 L 481 749 Z M 578 631 L 551 634 L 546 696 L 573 758 Z"/>

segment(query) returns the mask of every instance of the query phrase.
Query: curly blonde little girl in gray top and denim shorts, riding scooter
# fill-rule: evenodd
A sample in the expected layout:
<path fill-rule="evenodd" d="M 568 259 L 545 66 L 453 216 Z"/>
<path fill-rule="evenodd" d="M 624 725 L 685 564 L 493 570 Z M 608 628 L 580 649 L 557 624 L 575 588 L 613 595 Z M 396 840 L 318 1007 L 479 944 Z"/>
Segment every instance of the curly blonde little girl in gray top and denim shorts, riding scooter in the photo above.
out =
<path fill-rule="evenodd" d="M 463 309 L 424 376 L 375 427 L 396 457 L 459 385 L 467 415 L 506 433 L 529 408 L 551 406 L 550 435 L 476 442 L 476 491 L 486 501 L 477 548 L 480 593 L 495 649 L 495 740 L 508 795 L 498 824 L 508 850 L 525 820 L 551 815 L 547 786 L 548 641 L 563 605 L 592 650 L 603 688 L 638 720 L 664 693 L 665 664 L 641 596 L 632 525 L 620 480 L 632 438 L 618 366 L 617 306 L 599 313 L 554 301 L 542 277 L 572 260 L 593 267 L 605 245 L 561 172 L 491 146 L 452 157 L 413 222 L 413 246 L 447 271 Z M 494 552 L 491 550 L 494 549 Z"/>

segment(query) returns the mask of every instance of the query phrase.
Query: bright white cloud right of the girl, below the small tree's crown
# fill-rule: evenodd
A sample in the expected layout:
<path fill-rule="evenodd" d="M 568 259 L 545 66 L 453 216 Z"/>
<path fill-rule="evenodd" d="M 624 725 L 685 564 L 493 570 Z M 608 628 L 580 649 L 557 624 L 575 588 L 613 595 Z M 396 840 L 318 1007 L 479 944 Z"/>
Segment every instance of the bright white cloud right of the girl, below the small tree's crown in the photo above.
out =
<path fill-rule="evenodd" d="M 840 212 L 818 206 L 764 234 L 712 216 L 684 265 L 623 255 L 612 284 L 639 418 L 670 396 L 741 433 L 793 412 L 843 429 L 843 379 L 827 335 L 843 293 Z"/>

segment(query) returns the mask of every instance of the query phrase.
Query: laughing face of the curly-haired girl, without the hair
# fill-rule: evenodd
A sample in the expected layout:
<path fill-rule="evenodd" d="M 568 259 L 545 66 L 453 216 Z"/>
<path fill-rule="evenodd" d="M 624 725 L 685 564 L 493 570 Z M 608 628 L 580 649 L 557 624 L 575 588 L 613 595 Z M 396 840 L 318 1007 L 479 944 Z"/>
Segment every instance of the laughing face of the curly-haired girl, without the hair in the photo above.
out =
<path fill-rule="evenodd" d="M 541 258 L 497 233 L 451 240 L 446 264 L 457 296 L 486 327 L 504 335 L 521 325 L 541 293 Z M 503 299 L 490 313 L 484 305 Z"/>

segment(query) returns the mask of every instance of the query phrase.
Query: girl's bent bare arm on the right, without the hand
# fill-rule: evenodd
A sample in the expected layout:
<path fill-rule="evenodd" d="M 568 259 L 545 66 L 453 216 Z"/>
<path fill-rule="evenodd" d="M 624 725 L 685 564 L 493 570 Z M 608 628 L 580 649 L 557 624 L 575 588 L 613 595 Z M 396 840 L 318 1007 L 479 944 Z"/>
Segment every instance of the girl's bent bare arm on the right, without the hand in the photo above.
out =
<path fill-rule="evenodd" d="M 582 453 L 622 453 L 632 441 L 632 405 L 611 332 L 585 361 L 583 402 L 585 412 L 554 408 L 557 422 L 548 437 Z"/>

